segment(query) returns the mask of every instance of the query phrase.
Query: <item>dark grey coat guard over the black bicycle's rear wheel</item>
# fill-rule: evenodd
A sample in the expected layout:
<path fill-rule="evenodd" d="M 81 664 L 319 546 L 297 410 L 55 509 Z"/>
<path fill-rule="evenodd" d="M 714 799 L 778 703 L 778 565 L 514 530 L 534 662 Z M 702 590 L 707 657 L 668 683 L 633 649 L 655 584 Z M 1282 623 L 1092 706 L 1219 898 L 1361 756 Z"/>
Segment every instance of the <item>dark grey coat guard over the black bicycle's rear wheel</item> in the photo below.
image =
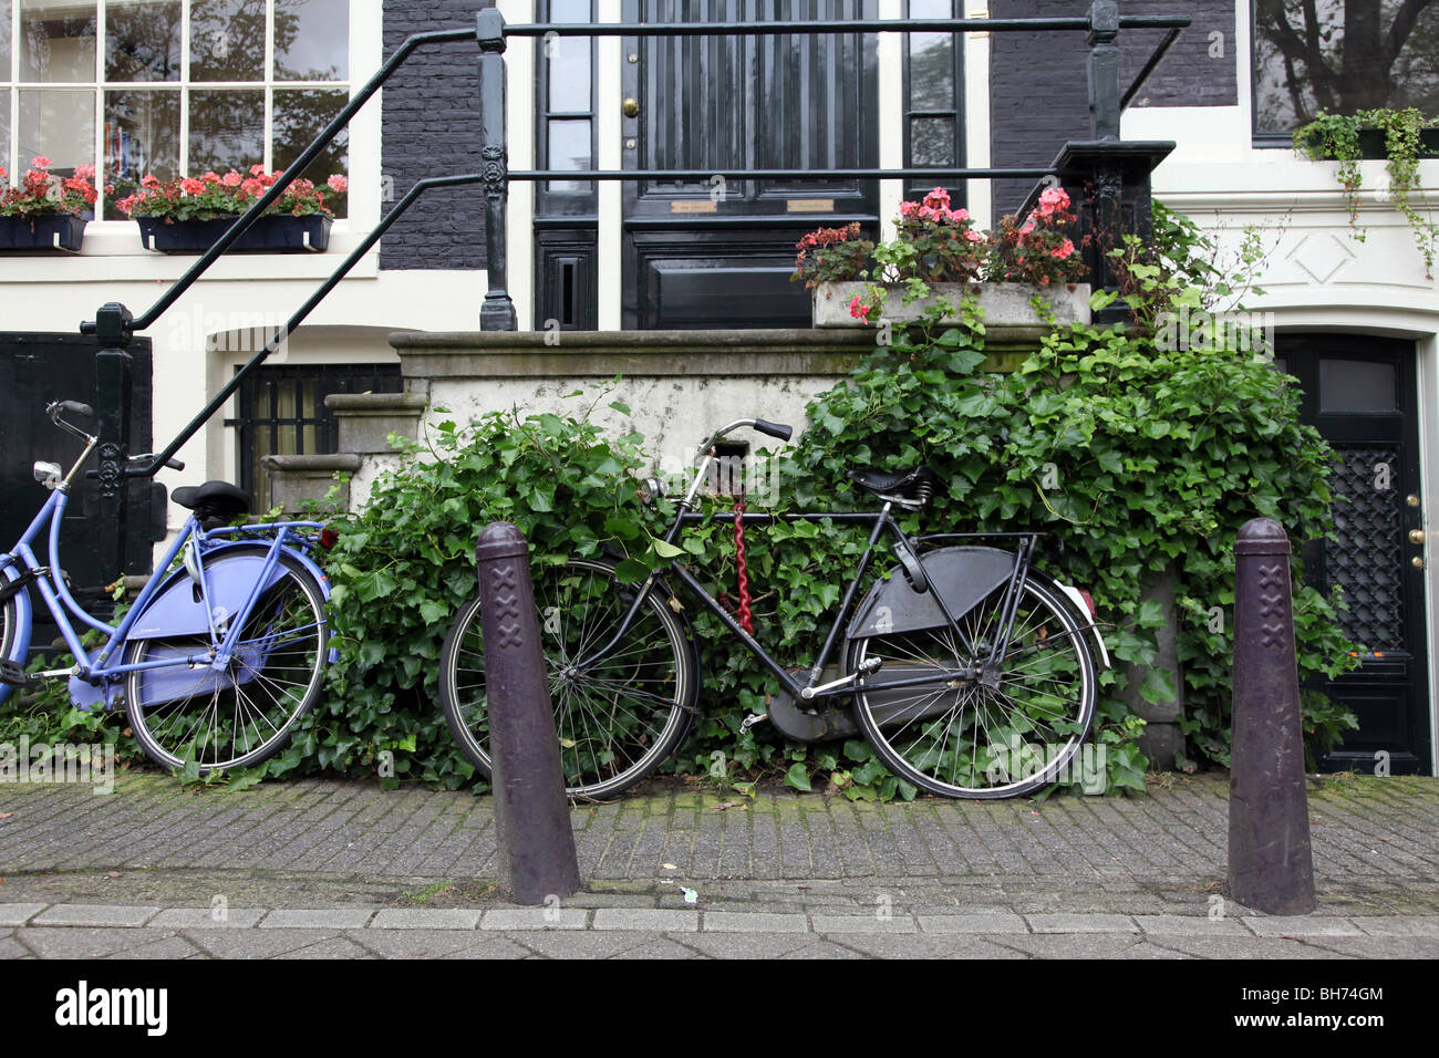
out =
<path fill-rule="evenodd" d="M 924 571 L 930 590 L 921 594 L 909 586 L 901 566 L 889 570 L 889 579 L 871 587 L 859 603 L 845 635 L 861 639 L 944 628 L 944 612 L 934 594 L 940 593 L 950 613 L 958 619 L 984 602 L 996 587 L 1009 583 L 1014 573 L 1014 554 L 997 547 L 941 547 L 924 556 Z"/>

